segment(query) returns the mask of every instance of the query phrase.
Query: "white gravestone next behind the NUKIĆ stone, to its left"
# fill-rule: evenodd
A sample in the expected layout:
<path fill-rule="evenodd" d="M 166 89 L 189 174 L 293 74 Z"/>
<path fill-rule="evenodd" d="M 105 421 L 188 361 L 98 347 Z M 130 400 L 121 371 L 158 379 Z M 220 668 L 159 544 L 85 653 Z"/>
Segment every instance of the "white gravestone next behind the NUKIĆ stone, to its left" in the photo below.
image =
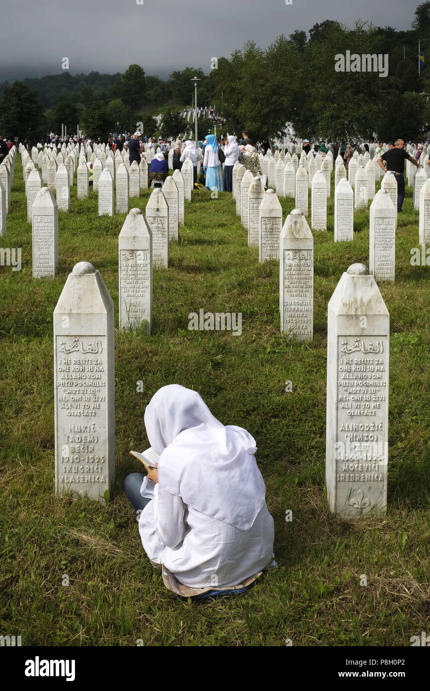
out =
<path fill-rule="evenodd" d="M 58 206 L 47 187 L 37 194 L 31 215 L 33 278 L 54 278 L 58 268 Z"/>

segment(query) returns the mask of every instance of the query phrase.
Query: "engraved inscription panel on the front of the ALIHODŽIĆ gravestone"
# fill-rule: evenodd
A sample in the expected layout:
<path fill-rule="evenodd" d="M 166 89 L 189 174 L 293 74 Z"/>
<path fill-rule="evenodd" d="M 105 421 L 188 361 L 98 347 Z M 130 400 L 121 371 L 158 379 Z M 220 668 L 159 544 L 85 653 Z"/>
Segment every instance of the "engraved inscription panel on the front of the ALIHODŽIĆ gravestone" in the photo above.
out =
<path fill-rule="evenodd" d="M 338 337 L 338 482 L 384 482 L 387 337 Z"/>

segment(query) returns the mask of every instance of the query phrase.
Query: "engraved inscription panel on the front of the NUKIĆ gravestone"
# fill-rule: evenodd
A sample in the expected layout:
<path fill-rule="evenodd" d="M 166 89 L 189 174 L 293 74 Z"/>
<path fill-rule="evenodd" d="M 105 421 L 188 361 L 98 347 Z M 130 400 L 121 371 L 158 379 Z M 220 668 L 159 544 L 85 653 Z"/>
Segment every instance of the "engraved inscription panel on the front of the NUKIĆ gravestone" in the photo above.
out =
<path fill-rule="evenodd" d="M 106 336 L 57 336 L 59 485 L 107 482 Z"/>

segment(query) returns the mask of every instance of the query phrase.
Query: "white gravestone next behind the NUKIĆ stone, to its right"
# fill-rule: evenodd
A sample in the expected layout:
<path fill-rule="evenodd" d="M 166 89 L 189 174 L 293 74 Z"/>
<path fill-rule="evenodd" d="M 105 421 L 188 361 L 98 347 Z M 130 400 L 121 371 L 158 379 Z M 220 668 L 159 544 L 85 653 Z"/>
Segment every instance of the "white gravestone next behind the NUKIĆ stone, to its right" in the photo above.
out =
<path fill-rule="evenodd" d="M 153 243 L 141 209 L 130 209 L 118 238 L 119 328 L 139 330 L 153 321 Z"/>

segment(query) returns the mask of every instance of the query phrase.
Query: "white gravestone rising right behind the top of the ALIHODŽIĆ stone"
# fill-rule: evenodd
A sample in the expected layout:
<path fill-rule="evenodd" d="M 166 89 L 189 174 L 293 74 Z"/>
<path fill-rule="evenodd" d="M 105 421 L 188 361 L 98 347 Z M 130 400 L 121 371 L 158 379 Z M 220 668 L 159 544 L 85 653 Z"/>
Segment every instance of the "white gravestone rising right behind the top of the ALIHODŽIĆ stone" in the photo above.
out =
<path fill-rule="evenodd" d="M 394 282 L 395 209 L 383 189 L 375 194 L 370 207 L 369 269 L 375 281 Z"/>

